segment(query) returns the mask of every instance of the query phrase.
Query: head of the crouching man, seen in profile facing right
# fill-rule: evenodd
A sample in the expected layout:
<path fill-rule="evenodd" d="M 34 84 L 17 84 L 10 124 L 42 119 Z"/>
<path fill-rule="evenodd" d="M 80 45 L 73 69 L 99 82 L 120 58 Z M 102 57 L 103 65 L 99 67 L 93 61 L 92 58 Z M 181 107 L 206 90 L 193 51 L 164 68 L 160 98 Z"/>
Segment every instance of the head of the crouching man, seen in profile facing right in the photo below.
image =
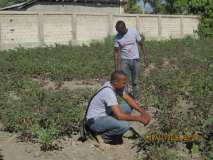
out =
<path fill-rule="evenodd" d="M 111 74 L 110 81 L 115 89 L 124 89 L 128 83 L 128 77 L 123 71 L 115 71 Z"/>

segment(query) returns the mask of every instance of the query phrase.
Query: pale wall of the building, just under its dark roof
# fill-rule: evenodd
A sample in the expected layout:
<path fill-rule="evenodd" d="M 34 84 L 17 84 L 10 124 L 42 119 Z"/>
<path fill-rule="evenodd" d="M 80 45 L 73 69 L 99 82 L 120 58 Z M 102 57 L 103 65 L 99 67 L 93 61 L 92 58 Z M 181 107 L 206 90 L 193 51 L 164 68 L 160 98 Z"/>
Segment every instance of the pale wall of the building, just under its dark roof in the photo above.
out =
<path fill-rule="evenodd" d="M 32 12 L 87 12 L 87 13 L 124 13 L 124 8 L 119 6 L 109 5 L 60 5 L 60 4 L 35 4 L 32 7 L 27 8 L 26 11 Z"/>

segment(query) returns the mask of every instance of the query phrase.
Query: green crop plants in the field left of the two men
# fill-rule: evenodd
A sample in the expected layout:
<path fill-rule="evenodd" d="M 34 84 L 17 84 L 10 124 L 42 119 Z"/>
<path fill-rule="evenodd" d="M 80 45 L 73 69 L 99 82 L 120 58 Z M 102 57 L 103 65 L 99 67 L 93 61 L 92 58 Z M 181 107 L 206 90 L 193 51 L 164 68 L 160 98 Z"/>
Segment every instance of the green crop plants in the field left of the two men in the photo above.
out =
<path fill-rule="evenodd" d="M 20 132 L 24 140 L 26 135 L 29 140 L 37 137 L 43 150 L 51 149 L 57 137 L 77 134 L 84 107 L 93 91 L 44 90 L 34 78 L 58 82 L 103 78 L 112 68 L 111 45 L 112 41 L 106 40 L 94 42 L 90 47 L 17 48 L 2 52 L 0 121 L 5 130 Z M 96 61 L 101 57 L 102 60 Z"/>

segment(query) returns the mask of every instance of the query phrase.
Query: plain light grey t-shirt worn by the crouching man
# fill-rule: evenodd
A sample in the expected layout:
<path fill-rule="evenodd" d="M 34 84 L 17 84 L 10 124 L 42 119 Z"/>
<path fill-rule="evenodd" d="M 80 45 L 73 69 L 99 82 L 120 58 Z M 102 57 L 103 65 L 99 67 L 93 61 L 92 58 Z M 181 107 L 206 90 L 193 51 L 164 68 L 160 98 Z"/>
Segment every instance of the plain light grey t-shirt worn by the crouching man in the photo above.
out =
<path fill-rule="evenodd" d="M 101 88 L 106 86 L 107 88 L 104 88 L 95 97 L 93 97 L 86 115 L 87 119 L 90 119 L 90 118 L 97 119 L 98 117 L 106 116 L 107 107 L 111 107 L 113 105 L 118 104 L 118 100 L 116 96 L 117 93 L 113 89 L 110 82 L 106 82 Z"/>

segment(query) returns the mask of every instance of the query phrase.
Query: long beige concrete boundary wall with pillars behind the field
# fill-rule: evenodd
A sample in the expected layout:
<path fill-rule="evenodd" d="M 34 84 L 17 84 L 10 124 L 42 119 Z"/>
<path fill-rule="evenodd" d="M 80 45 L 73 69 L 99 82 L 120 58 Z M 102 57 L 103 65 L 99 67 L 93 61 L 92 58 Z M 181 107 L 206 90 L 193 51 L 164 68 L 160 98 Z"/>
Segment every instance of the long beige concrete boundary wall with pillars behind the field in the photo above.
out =
<path fill-rule="evenodd" d="M 103 40 L 116 33 L 118 20 L 137 28 L 147 40 L 193 35 L 199 23 L 197 16 L 181 15 L 0 12 L 0 49 Z"/>

